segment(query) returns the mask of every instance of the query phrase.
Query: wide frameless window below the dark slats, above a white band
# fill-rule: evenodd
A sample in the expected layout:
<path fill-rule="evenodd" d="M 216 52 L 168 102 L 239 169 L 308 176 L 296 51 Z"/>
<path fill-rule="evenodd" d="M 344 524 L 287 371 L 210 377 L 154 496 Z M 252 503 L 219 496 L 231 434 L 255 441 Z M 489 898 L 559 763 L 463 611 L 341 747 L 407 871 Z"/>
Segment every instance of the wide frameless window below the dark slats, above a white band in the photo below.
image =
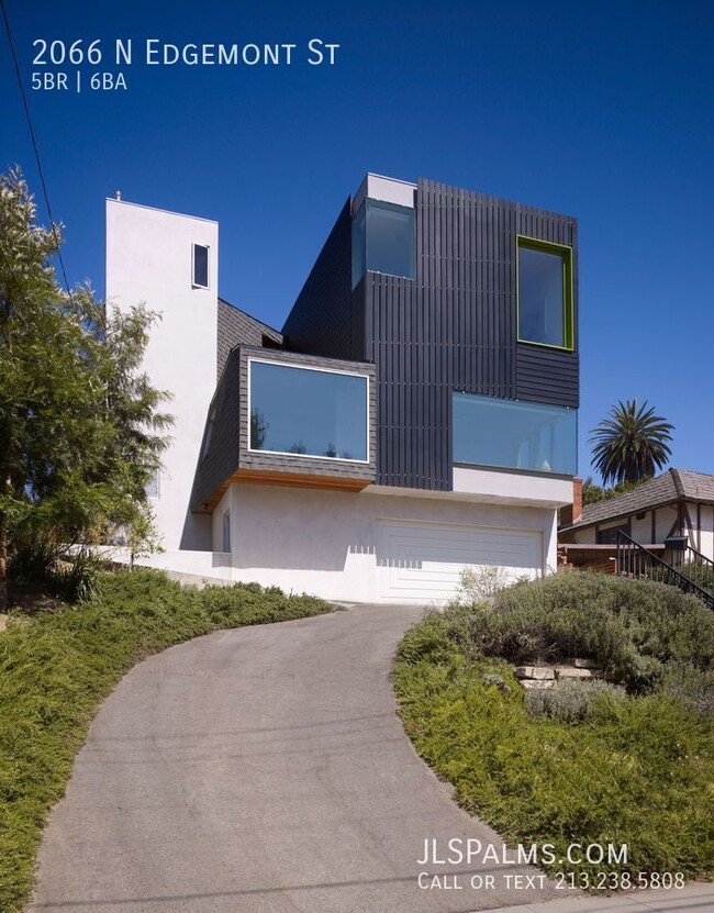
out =
<path fill-rule="evenodd" d="M 454 393 L 454 461 L 574 476 L 578 412 Z"/>

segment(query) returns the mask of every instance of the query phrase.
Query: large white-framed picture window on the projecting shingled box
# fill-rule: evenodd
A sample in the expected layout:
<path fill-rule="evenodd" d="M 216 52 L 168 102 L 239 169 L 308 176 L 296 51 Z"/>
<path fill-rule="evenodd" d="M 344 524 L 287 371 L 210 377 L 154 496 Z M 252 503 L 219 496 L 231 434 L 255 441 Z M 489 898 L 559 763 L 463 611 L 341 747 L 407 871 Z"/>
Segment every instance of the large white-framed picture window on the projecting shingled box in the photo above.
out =
<path fill-rule="evenodd" d="M 249 447 L 326 459 L 368 460 L 368 379 L 249 363 Z"/>

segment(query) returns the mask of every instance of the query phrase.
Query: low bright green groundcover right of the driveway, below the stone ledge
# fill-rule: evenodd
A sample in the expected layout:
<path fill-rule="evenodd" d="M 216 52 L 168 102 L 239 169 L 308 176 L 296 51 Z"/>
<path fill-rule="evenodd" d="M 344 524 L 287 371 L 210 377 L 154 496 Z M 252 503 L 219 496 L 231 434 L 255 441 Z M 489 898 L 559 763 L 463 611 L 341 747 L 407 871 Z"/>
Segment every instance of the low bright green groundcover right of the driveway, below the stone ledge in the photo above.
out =
<path fill-rule="evenodd" d="M 576 878 L 605 868 L 711 873 L 711 720 L 663 693 L 629 697 L 602 686 L 579 721 L 571 717 L 581 710 L 569 714 L 566 701 L 534 717 L 526 702 L 548 692 L 524 697 L 511 665 L 467 663 L 446 621 L 422 625 L 428 636 L 409 632 L 412 646 L 394 667 L 400 715 L 468 812 L 513 844 L 553 844 L 557 859 L 572 843 L 628 845 L 626 865 L 583 864 Z"/>

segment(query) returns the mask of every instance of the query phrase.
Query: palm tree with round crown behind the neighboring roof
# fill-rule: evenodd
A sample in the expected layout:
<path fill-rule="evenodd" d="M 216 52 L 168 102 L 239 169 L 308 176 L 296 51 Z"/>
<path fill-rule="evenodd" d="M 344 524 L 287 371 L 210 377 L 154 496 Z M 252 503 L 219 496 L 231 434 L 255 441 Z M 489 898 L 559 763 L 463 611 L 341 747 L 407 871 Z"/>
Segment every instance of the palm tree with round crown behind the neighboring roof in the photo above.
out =
<path fill-rule="evenodd" d="M 640 482 L 654 476 L 671 456 L 668 444 L 674 425 L 647 409 L 647 400 L 622 400 L 609 416 L 593 428 L 588 443 L 593 444 L 594 466 L 603 482 L 615 485 Z"/>

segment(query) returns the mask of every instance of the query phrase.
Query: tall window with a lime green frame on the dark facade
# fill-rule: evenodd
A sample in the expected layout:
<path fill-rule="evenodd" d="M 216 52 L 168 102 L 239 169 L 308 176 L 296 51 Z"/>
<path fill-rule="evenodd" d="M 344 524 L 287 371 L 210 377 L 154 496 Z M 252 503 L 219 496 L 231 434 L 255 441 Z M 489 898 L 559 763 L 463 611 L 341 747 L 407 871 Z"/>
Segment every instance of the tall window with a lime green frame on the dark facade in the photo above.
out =
<path fill-rule="evenodd" d="M 572 248 L 516 237 L 518 342 L 573 348 Z"/>

